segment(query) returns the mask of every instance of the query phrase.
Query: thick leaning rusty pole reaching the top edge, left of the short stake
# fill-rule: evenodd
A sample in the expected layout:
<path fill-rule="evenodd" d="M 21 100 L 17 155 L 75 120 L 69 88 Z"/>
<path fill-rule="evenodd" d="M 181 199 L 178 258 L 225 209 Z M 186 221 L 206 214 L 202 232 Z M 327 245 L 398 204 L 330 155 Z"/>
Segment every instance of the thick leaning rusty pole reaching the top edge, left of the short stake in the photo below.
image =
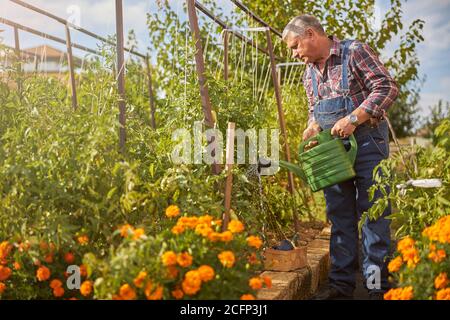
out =
<path fill-rule="evenodd" d="M 205 125 L 209 128 L 214 127 L 214 118 L 211 109 L 211 100 L 209 99 L 208 84 L 206 82 L 205 73 L 205 61 L 203 60 L 203 48 L 200 38 L 200 28 L 198 26 L 197 13 L 195 11 L 195 0 L 186 0 L 188 15 L 189 15 L 189 25 L 191 27 L 192 35 L 195 40 L 195 67 L 197 70 L 198 82 L 200 86 L 200 96 L 202 101 L 203 114 L 205 116 Z M 215 148 L 215 138 L 212 137 L 208 144 L 211 144 L 213 150 Z M 220 173 L 220 166 L 214 162 L 213 163 L 213 174 Z"/>

